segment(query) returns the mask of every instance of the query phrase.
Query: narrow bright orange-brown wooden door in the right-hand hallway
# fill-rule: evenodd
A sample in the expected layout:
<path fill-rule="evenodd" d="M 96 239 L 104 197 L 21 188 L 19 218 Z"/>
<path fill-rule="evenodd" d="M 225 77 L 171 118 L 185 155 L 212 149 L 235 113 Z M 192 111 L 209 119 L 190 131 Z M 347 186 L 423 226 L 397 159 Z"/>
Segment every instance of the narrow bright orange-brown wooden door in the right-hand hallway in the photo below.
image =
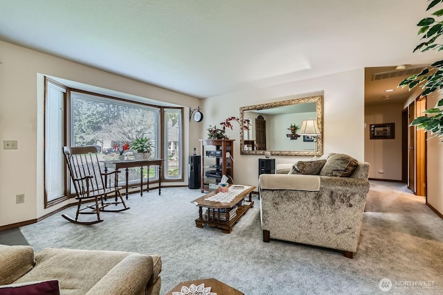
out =
<path fill-rule="evenodd" d="M 426 97 L 415 102 L 415 118 L 426 111 Z M 426 133 L 424 129 L 415 132 L 415 195 L 426 197 Z"/>

